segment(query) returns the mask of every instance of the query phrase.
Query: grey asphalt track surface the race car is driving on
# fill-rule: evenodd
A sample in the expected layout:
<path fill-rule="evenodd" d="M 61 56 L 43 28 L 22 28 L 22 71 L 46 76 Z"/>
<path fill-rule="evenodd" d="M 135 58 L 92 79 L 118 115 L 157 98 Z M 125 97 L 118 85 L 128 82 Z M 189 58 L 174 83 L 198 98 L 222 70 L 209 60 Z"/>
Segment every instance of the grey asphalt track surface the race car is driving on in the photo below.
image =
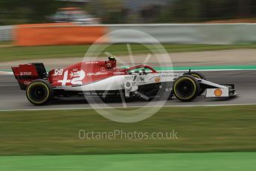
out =
<path fill-rule="evenodd" d="M 207 80 L 214 83 L 234 83 L 237 90 L 237 97 L 232 99 L 218 100 L 206 99 L 204 96 L 197 97 L 189 103 L 182 103 L 179 100 L 167 100 L 165 106 L 218 106 L 237 104 L 256 104 L 256 71 L 201 71 Z M 86 100 L 62 100 L 55 101 L 47 106 L 33 106 L 25 97 L 25 91 L 19 89 L 13 75 L 0 76 L 0 110 L 17 109 L 87 109 L 92 108 Z M 133 101 L 126 103 L 126 106 L 146 106 L 148 102 Z M 109 107 L 123 107 L 121 102 L 107 103 Z M 98 104 L 100 106 L 100 103 Z"/>

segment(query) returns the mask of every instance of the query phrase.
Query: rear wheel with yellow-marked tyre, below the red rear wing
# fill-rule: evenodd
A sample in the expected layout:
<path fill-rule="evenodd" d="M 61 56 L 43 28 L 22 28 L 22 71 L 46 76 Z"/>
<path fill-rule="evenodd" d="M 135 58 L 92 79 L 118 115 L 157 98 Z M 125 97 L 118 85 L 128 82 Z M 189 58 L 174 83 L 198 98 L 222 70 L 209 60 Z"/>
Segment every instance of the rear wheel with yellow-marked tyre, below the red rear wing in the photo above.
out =
<path fill-rule="evenodd" d="M 53 97 L 54 91 L 46 80 L 34 80 L 26 89 L 28 101 L 36 106 L 45 105 Z"/>

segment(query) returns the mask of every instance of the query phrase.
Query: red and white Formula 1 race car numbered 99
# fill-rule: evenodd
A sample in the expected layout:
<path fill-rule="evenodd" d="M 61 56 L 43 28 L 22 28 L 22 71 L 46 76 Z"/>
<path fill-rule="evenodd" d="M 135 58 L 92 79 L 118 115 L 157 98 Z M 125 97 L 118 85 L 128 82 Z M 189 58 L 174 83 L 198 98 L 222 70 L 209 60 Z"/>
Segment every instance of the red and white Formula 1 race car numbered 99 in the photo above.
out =
<path fill-rule="evenodd" d="M 174 96 L 188 102 L 206 91 L 205 97 L 234 97 L 234 85 L 205 80 L 199 72 L 156 71 L 149 65 L 118 68 L 115 57 L 107 61 L 79 62 L 47 72 L 42 63 L 12 67 L 13 74 L 28 100 L 44 105 L 51 100 L 77 97 L 121 97 L 152 100 Z"/>

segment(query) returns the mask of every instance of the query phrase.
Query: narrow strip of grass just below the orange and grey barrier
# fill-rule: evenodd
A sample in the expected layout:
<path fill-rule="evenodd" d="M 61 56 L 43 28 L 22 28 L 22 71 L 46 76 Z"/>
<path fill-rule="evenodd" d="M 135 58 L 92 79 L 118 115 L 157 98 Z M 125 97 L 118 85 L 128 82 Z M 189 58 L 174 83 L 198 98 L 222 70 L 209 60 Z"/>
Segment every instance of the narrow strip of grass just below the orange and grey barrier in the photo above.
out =
<path fill-rule="evenodd" d="M 104 45 L 103 45 L 104 46 Z M 1 46 L 0 46 L 1 47 Z M 84 57 L 90 45 L 58 45 L 58 46 L 34 46 L 34 47 L 4 47 L 0 48 L 0 62 L 20 60 L 20 59 L 49 59 L 60 57 Z M 159 50 L 150 46 L 150 50 L 144 45 L 131 45 L 133 54 L 145 54 L 150 50 Z M 164 45 L 167 52 L 186 52 L 186 51 L 216 51 L 237 48 L 256 48 L 252 45 Z M 128 54 L 127 45 L 111 45 L 106 48 L 116 56 Z M 105 54 L 100 53 L 100 56 Z"/>

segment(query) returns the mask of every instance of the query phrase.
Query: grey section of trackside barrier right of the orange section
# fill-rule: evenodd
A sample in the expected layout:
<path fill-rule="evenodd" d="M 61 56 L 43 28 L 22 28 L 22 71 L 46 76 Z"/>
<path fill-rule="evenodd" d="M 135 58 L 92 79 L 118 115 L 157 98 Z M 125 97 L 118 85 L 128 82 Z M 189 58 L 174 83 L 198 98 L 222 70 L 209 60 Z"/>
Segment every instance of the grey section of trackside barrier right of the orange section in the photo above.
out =
<path fill-rule="evenodd" d="M 132 37 L 129 30 L 122 35 L 115 33 L 120 29 L 141 30 L 161 43 L 230 45 L 256 42 L 256 24 L 108 25 L 108 29 L 111 42 L 131 42 L 131 39 L 147 42 Z"/>

